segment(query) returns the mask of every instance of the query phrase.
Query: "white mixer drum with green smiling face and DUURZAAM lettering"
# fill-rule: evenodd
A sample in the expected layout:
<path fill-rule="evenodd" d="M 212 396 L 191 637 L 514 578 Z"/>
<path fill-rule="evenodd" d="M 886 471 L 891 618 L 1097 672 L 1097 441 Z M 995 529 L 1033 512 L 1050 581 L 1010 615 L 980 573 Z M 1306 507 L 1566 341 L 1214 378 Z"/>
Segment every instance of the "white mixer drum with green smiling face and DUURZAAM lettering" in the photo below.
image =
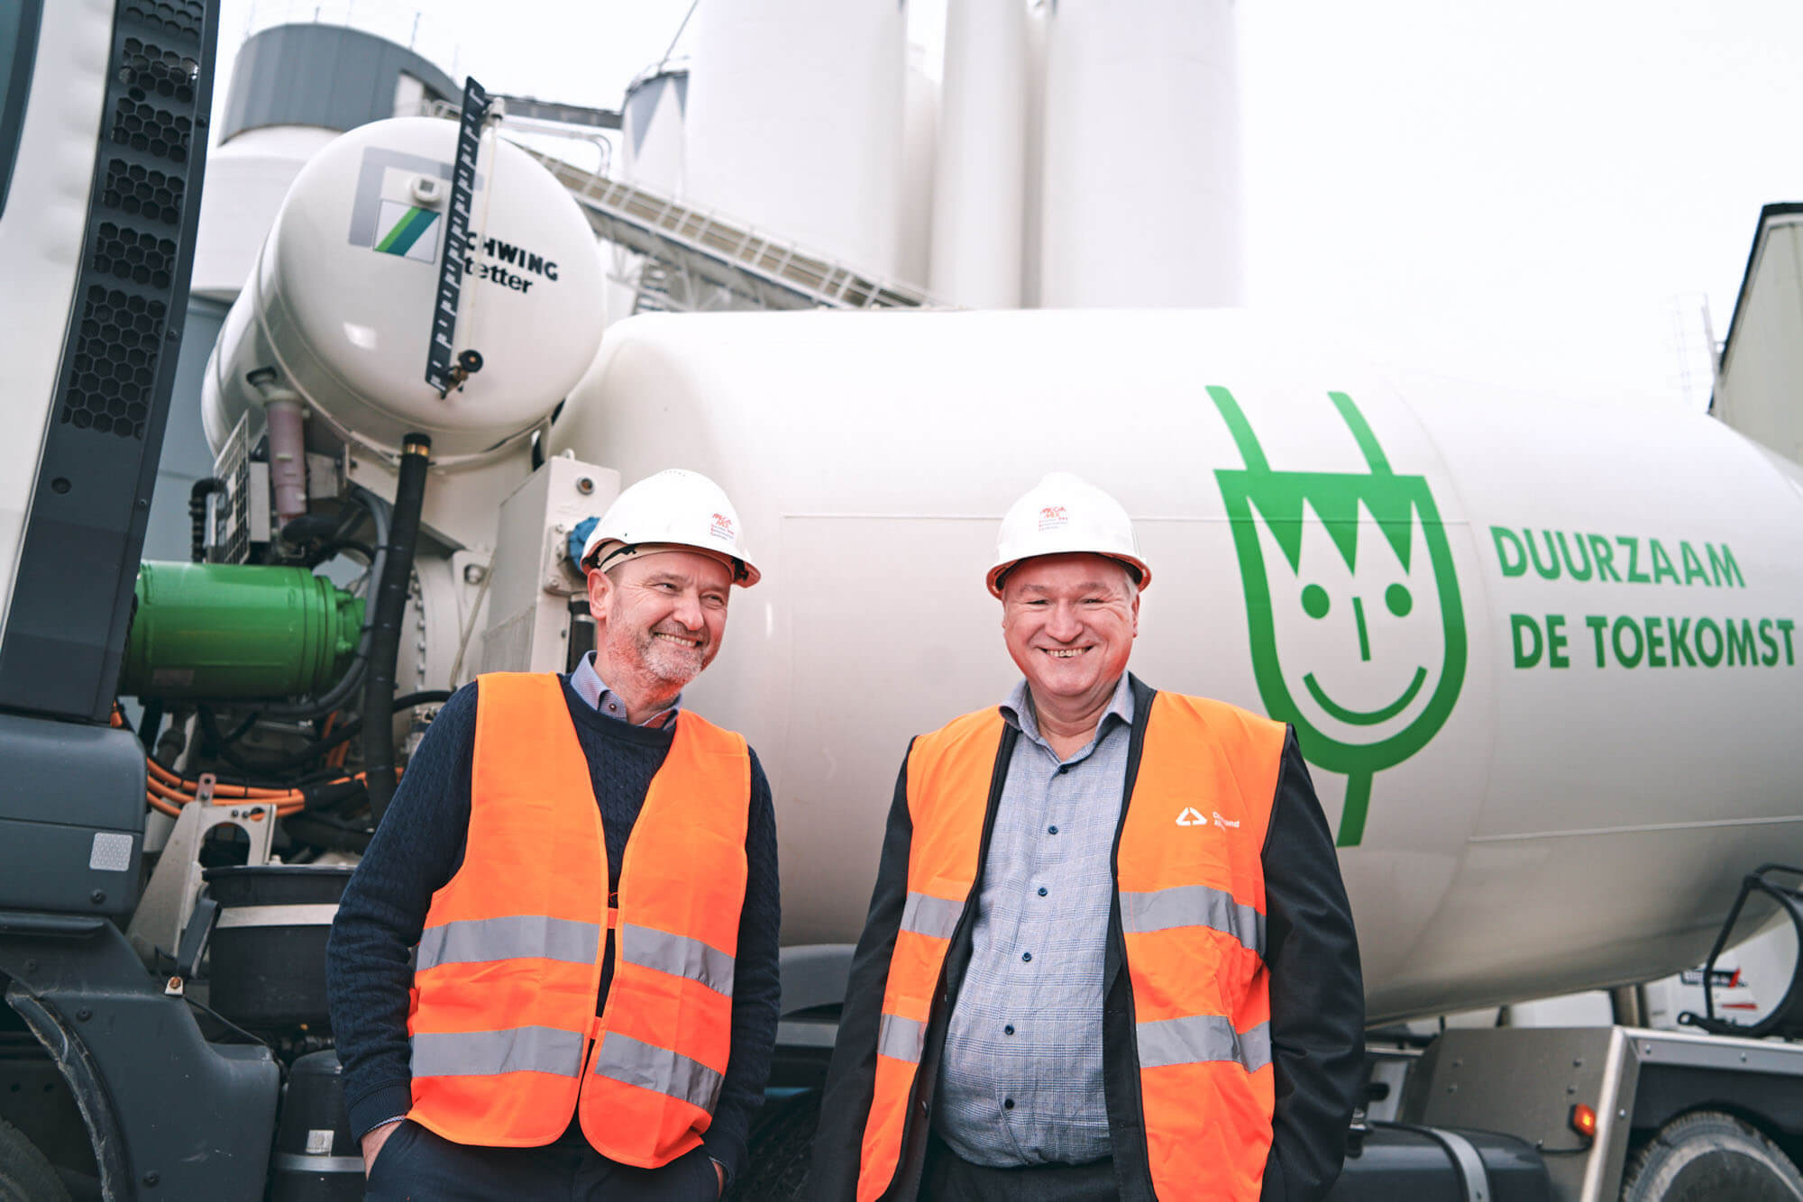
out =
<path fill-rule="evenodd" d="M 1284 701 L 1341 838 L 1368 780 L 1341 869 L 1374 1018 L 1695 964 L 1740 874 L 1803 856 L 1798 640 L 1758 638 L 1803 615 L 1803 494 L 1702 416 L 1405 400 L 1224 312 L 745 314 L 611 330 L 559 445 L 627 481 L 714 476 L 759 548 L 689 697 L 770 769 L 790 942 L 856 937 L 909 735 L 1010 687 L 983 569 L 1053 469 L 1136 517 L 1158 573 L 1136 672 Z M 1621 542 L 1619 582 L 1513 571 L 1491 526 L 1635 539 L 1648 580 Z M 1679 580 L 1652 578 L 1655 539 Z M 1684 544 L 1704 573 L 1727 546 L 1744 587 L 1686 582 Z M 1518 613 L 1565 618 L 1563 667 L 1518 665 Z M 1753 620 L 1758 661 L 1670 667 L 1666 627 L 1666 667 L 1612 645 L 1597 667 L 1588 615 L 1643 640 L 1650 615 Z"/>

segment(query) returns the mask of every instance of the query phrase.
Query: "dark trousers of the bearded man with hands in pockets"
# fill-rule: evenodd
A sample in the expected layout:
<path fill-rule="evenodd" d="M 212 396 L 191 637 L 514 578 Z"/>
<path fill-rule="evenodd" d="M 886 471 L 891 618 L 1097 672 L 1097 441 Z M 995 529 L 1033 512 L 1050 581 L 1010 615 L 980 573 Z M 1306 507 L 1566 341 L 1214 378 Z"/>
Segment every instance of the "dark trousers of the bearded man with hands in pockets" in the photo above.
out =
<path fill-rule="evenodd" d="M 382 1144 L 366 1202 L 712 1202 L 719 1179 L 705 1148 L 664 1168 L 615 1164 L 586 1143 L 476 1148 L 407 1119 Z"/>

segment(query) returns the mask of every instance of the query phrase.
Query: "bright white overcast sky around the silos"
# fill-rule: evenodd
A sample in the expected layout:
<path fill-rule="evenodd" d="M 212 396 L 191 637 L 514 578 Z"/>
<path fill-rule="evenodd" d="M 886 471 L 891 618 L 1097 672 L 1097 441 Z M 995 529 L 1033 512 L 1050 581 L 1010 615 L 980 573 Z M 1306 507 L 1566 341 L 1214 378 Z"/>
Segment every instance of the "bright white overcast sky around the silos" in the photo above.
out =
<path fill-rule="evenodd" d="M 932 40 L 943 0 L 909 2 Z M 611 108 L 689 5 L 433 0 L 418 47 L 496 92 Z M 348 7 L 415 32 L 416 5 Z M 220 79 L 252 20 L 316 9 L 341 18 L 346 2 L 225 0 Z M 1673 299 L 1707 296 L 1724 337 L 1760 205 L 1803 198 L 1794 2 L 1240 0 L 1239 14 L 1248 296 L 1298 337 L 1679 405 Z"/>

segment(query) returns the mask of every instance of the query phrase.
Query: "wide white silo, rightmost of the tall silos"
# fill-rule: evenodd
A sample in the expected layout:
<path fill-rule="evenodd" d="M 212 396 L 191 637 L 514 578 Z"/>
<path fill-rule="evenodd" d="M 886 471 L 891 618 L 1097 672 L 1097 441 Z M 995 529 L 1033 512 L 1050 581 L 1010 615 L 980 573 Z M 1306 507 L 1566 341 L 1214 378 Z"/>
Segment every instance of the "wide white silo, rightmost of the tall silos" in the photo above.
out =
<path fill-rule="evenodd" d="M 1046 47 L 1040 305 L 1239 305 L 1233 0 L 1058 0 Z"/>

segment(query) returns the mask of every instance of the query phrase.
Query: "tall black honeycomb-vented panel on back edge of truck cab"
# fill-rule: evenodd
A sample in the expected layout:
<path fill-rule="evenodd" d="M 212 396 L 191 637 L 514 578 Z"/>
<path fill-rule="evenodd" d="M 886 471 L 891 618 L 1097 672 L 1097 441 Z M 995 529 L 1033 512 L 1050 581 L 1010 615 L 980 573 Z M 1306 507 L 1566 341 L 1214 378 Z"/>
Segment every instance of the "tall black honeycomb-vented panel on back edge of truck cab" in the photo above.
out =
<path fill-rule="evenodd" d="M 114 9 L 74 305 L 0 643 L 0 708 L 87 721 L 112 708 L 188 310 L 216 7 Z"/>

